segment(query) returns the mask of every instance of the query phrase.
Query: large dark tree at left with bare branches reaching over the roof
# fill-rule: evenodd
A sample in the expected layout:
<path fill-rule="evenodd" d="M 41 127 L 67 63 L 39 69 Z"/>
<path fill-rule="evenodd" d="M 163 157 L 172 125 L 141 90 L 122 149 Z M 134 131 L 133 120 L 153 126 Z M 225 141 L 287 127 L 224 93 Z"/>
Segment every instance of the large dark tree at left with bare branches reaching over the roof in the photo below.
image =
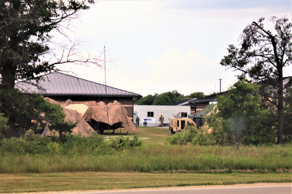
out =
<path fill-rule="evenodd" d="M 15 81 L 26 81 L 38 86 L 41 77 L 46 72 L 58 71 L 58 64 L 93 63 L 99 65 L 98 58 L 78 56 L 75 52 L 78 43 L 64 50 L 60 42 L 53 42 L 49 33 L 53 30 L 69 37 L 64 29 L 69 29 L 72 19 L 80 16 L 83 10 L 89 8 L 87 3 L 93 0 L 3 0 L 0 1 L 0 89 L 8 94 L 13 93 Z M 59 53 L 59 55 L 58 55 Z M 53 60 L 55 59 L 55 60 Z M 21 99 L 21 97 L 20 97 Z M 17 99 L 15 99 L 17 100 Z M 24 104 L 19 104 L 24 106 Z M 32 105 L 34 106 L 34 105 Z M 16 122 L 13 102 L 2 99 L 1 112 L 8 118 L 9 129 L 6 137 L 15 136 Z M 41 114 L 39 112 L 39 114 Z M 29 117 L 25 118 L 29 120 Z"/>

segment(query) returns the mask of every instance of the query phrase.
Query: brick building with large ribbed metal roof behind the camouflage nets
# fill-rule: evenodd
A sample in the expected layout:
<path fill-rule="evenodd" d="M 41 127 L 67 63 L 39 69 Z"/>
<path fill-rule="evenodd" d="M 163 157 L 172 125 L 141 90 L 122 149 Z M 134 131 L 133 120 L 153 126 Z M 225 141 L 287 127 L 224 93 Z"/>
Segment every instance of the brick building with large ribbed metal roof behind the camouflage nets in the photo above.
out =
<path fill-rule="evenodd" d="M 18 82 L 15 86 L 23 92 L 35 92 L 59 102 L 65 102 L 70 99 L 73 102 L 94 100 L 96 102 L 103 101 L 108 104 L 116 100 L 124 106 L 129 117 L 132 119 L 133 100 L 138 100 L 142 97 L 140 94 L 105 86 L 60 72 L 45 74 L 41 78 L 37 84 L 35 82 Z"/>

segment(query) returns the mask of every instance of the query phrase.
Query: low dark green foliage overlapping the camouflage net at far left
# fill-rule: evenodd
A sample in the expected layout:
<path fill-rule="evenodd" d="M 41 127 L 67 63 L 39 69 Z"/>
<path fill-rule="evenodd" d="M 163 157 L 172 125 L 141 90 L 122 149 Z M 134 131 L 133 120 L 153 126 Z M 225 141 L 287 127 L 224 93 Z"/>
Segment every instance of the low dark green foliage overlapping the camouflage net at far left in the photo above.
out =
<path fill-rule="evenodd" d="M 76 123 L 65 121 L 66 115 L 61 106 L 52 104 L 40 95 L 23 94 L 18 89 L 0 89 L 0 104 L 3 104 L 4 101 L 7 103 L 8 99 L 12 106 L 1 106 L 0 111 L 8 114 L 10 120 L 17 121 L 17 130 L 13 131 L 15 136 L 19 136 L 29 129 L 39 133 L 42 132 L 42 130 L 39 131 L 40 129 L 48 126 L 49 129 L 58 131 L 60 138 L 64 139 L 66 134 L 70 134 L 71 129 L 76 127 Z M 1 114 L 0 130 L 4 124 L 2 130 L 4 134 L 7 134 L 5 122 L 7 123 L 8 119 L 1 119 Z"/>

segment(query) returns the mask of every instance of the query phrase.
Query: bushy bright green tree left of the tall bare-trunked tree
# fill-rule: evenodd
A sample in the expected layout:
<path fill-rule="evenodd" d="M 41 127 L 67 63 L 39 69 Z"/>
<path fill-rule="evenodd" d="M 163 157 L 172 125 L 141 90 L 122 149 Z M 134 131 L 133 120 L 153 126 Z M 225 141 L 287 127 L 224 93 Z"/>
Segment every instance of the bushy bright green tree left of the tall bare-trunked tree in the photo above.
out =
<path fill-rule="evenodd" d="M 223 123 L 220 125 L 223 128 L 220 135 L 232 134 L 237 145 L 240 142 L 258 144 L 274 140 L 270 133 L 272 129 L 264 124 L 269 112 L 260 109 L 261 97 L 256 94 L 259 87 L 243 79 L 235 83 L 227 94 L 217 98 L 218 111 L 214 114 L 220 119 L 213 122 L 220 120 Z M 212 119 L 208 118 L 208 124 L 211 122 Z M 230 138 L 227 139 L 230 140 Z"/>

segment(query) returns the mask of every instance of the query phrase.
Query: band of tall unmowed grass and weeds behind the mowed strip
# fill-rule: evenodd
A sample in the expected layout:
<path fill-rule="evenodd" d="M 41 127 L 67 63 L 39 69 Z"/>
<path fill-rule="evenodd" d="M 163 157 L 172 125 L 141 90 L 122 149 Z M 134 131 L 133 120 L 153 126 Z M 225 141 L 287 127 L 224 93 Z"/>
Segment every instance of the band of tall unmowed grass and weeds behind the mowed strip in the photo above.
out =
<path fill-rule="evenodd" d="M 292 144 L 244 146 L 169 145 L 102 136 L 71 137 L 60 144 L 49 138 L 4 139 L 0 173 L 46 172 L 276 172 L 292 169 Z"/>

